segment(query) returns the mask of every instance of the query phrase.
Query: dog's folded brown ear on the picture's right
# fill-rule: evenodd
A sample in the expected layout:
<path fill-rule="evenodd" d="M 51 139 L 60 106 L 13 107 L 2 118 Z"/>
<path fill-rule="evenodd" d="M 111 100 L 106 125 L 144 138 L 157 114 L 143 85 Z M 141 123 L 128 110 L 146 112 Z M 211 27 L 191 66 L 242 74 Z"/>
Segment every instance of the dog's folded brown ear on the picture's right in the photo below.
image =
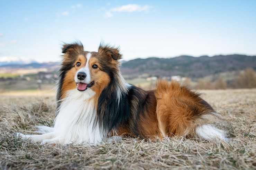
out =
<path fill-rule="evenodd" d="M 101 43 L 98 49 L 98 53 L 105 54 L 106 56 L 114 60 L 122 59 L 122 54 L 120 54 L 119 48 L 111 47 L 108 44 L 104 45 Z"/>

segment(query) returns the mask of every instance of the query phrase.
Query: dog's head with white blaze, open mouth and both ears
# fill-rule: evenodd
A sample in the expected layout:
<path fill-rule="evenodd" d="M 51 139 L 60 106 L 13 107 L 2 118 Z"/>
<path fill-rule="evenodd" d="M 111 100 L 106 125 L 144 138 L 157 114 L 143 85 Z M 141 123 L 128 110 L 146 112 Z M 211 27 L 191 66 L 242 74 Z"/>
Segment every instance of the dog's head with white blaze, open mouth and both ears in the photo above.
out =
<path fill-rule="evenodd" d="M 91 89 L 99 95 L 120 72 L 122 55 L 119 48 L 101 43 L 98 52 L 88 52 L 84 51 L 81 42 L 75 42 L 64 44 L 62 53 L 57 100 L 63 99 L 66 92 L 73 89 L 81 93 Z"/>

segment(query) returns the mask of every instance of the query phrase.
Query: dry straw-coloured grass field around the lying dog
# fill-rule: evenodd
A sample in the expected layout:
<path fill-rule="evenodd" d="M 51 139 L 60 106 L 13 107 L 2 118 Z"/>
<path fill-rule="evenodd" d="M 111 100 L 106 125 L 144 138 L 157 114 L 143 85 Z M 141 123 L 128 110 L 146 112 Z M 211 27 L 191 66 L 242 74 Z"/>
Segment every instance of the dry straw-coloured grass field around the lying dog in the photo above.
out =
<path fill-rule="evenodd" d="M 232 142 L 125 138 L 97 146 L 40 146 L 13 134 L 52 126 L 54 97 L 0 96 L 0 169 L 256 169 L 256 89 L 202 93 L 232 122 Z"/>

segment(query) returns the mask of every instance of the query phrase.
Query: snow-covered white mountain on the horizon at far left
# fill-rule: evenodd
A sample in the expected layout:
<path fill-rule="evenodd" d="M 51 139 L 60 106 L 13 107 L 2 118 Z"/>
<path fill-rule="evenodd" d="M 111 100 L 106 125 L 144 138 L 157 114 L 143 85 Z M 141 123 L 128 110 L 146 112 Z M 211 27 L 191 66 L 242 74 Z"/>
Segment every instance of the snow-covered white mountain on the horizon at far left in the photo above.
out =
<path fill-rule="evenodd" d="M 36 59 L 29 58 L 18 58 L 18 57 L 0 57 L 0 66 L 7 65 L 19 65 L 19 64 L 30 64 L 30 63 L 41 63 Z"/>

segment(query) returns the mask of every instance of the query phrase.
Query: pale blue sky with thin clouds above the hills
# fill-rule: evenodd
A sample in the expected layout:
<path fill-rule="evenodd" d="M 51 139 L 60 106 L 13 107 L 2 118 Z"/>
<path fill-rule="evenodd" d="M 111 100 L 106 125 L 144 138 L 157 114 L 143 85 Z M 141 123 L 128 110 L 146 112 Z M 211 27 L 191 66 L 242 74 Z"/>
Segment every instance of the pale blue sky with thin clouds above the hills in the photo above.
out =
<path fill-rule="evenodd" d="M 0 59 L 59 61 L 61 44 L 119 46 L 124 60 L 256 55 L 255 0 L 0 0 Z"/>

